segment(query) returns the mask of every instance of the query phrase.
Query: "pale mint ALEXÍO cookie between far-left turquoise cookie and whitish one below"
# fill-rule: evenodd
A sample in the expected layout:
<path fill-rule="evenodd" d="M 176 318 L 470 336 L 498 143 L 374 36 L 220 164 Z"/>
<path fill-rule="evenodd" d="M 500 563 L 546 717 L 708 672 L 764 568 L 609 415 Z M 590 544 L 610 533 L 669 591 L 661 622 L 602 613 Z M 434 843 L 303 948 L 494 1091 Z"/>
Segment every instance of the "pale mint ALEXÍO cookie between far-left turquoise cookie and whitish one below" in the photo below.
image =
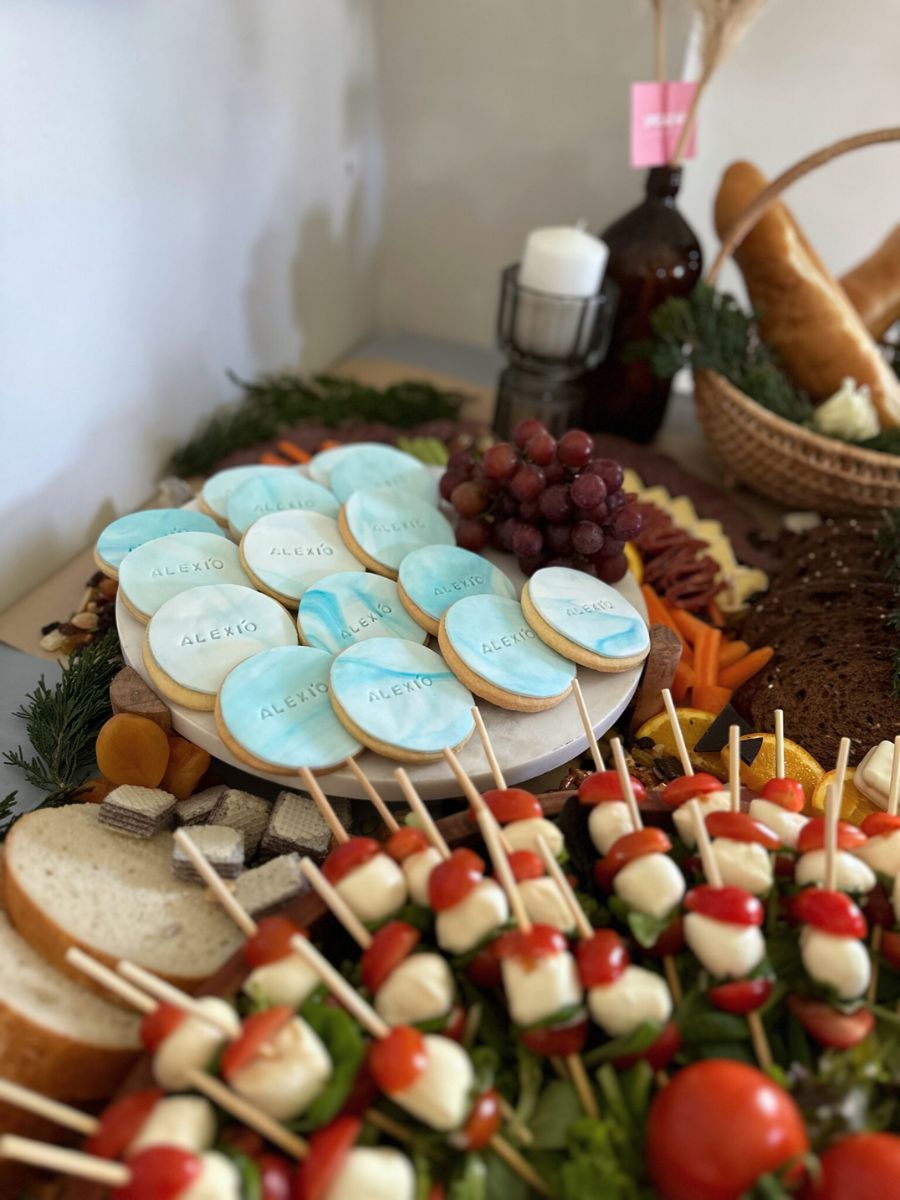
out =
<path fill-rule="evenodd" d="M 167 600 L 210 583 L 252 587 L 238 547 L 221 530 L 154 538 L 126 554 L 119 566 L 125 606 L 144 623 Z"/>

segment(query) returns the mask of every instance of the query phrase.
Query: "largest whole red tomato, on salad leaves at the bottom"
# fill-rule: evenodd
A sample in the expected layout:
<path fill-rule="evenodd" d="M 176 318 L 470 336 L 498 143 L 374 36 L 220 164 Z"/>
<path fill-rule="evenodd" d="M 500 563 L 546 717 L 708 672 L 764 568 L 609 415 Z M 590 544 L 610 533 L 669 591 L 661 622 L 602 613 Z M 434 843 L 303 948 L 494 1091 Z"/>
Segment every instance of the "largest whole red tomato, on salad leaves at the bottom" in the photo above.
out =
<path fill-rule="evenodd" d="M 755 1067 L 709 1058 L 656 1093 L 647 1121 L 662 1200 L 738 1200 L 761 1175 L 809 1150 L 799 1109 Z"/>

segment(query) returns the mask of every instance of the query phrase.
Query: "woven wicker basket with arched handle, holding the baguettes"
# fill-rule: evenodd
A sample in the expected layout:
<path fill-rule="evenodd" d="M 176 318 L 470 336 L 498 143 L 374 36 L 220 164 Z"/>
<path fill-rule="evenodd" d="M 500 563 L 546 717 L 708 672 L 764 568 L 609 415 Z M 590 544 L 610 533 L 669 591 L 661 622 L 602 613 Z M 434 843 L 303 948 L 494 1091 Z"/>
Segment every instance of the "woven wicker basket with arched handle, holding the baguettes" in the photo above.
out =
<path fill-rule="evenodd" d="M 707 280 L 714 283 L 725 259 L 769 205 L 796 180 L 839 155 L 900 140 L 900 127 L 845 138 L 774 179 L 725 236 Z M 864 514 L 900 508 L 900 456 L 814 433 L 757 404 L 714 371 L 694 373 L 697 416 L 713 455 L 727 474 L 788 508 L 823 514 Z"/>

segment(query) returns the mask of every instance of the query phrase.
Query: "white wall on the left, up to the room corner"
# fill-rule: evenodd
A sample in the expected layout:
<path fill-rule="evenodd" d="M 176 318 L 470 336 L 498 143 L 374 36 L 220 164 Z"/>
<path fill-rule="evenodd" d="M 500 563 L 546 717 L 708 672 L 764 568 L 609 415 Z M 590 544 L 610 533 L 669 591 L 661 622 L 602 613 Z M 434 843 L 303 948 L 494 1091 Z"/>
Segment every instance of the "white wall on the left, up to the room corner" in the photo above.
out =
<path fill-rule="evenodd" d="M 371 326 L 373 0 L 0 7 L 0 610 Z"/>

